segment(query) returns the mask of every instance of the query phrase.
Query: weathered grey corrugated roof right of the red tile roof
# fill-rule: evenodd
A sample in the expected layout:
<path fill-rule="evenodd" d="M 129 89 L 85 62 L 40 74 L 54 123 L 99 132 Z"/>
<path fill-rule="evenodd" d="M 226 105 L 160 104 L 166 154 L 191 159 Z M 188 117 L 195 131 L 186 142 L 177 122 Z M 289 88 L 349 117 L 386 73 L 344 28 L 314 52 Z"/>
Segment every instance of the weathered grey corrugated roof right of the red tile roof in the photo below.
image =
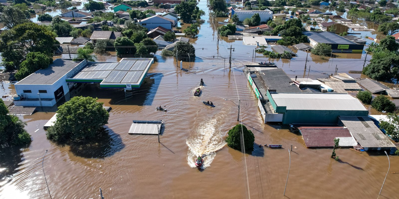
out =
<path fill-rule="evenodd" d="M 369 117 L 339 116 L 362 147 L 395 147 Z"/>

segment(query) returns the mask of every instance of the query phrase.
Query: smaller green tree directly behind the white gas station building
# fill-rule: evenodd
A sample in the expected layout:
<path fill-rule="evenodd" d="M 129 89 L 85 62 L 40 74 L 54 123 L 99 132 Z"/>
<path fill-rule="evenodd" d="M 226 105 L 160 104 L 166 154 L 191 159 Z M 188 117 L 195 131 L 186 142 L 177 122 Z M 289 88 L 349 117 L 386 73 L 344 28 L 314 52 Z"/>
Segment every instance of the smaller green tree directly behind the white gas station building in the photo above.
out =
<path fill-rule="evenodd" d="M 39 69 L 45 69 L 53 62 L 51 57 L 44 53 L 31 52 L 26 55 L 26 59 L 20 64 L 20 69 L 15 74 L 15 78 L 19 81 Z"/>

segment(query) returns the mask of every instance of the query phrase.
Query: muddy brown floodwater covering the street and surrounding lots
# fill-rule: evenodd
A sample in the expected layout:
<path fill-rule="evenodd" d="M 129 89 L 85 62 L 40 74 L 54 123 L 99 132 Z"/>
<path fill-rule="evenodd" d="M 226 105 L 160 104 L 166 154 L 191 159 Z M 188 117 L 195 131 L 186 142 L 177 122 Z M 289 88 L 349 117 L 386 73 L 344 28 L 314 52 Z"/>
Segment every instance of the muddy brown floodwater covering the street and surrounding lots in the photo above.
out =
<path fill-rule="evenodd" d="M 206 1 L 199 2 L 199 7 L 207 12 Z M 335 161 L 330 158 L 332 148 L 306 148 L 302 137 L 286 127 L 265 125 L 257 98 L 242 71 L 245 60 L 252 60 L 255 46 L 221 39 L 217 52 L 213 24 L 207 21 L 209 16 L 203 19 L 199 38 L 192 39 L 197 58 L 195 62 L 183 62 L 184 70 L 176 67 L 172 57 L 162 58 L 158 53 L 158 62 L 152 64 L 148 77 L 132 94 L 125 95 L 122 89 L 99 88 L 99 84 L 80 87 L 77 96 L 97 97 L 112 107 L 106 126 L 109 136 L 94 140 L 95 144 L 61 146 L 47 140 L 43 125 L 54 115 L 52 111 L 20 116 L 33 141 L 24 150 L 0 151 L 0 199 L 49 198 L 41 165 L 45 150 L 48 152 L 43 166 L 54 199 L 99 198 L 100 187 L 106 191 L 105 199 L 377 198 L 388 169 L 387 156 L 383 152 L 358 153 L 342 148 L 336 150 L 340 161 Z M 235 48 L 231 69 L 227 49 L 230 45 Z M 304 70 L 306 53 L 295 52 L 298 57 L 291 61 L 271 59 L 290 77 L 323 77 L 326 75 L 322 73 L 333 73 L 336 65 L 338 72 L 361 70 L 363 66 L 361 54 L 342 54 L 346 59 L 327 60 L 309 54 Z M 119 60 L 112 55 L 98 58 Z M 370 58 L 367 56 L 367 60 Z M 256 62 L 268 59 L 256 58 Z M 201 78 L 205 85 L 201 86 L 201 95 L 195 97 Z M 14 92 L 13 85 L 5 85 L 2 93 Z M 215 107 L 202 103 L 208 100 Z M 247 154 L 224 142 L 228 130 L 239 123 L 234 104 L 238 100 L 240 120 L 255 135 L 254 149 Z M 166 106 L 167 112 L 156 111 L 160 105 Z M 155 135 L 128 134 L 132 120 L 156 119 L 165 121 L 160 143 Z M 283 148 L 259 148 L 259 144 L 282 144 Z M 194 160 L 200 154 L 206 156 L 203 167 L 198 169 Z M 399 174 L 391 172 L 399 172 L 399 157 L 389 158 L 391 169 L 380 199 L 397 198 Z"/>

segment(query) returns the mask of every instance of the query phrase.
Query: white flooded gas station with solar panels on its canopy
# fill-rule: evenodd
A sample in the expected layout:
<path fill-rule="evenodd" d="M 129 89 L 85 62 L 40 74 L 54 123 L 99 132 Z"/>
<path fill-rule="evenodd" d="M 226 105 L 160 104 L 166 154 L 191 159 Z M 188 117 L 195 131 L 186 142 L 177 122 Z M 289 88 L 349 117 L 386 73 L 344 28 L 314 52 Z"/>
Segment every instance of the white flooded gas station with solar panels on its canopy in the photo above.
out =
<path fill-rule="evenodd" d="M 119 62 L 56 59 L 20 80 L 15 86 L 16 106 L 49 106 L 63 98 L 78 82 L 99 83 L 101 88 L 139 88 L 152 58 L 123 58 Z"/>

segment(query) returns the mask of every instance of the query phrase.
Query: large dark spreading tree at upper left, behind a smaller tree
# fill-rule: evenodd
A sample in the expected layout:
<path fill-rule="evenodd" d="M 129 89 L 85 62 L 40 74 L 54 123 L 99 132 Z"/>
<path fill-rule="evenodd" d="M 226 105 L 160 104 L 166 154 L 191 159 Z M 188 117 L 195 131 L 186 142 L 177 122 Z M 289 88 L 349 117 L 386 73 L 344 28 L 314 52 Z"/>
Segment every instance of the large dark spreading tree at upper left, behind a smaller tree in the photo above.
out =
<path fill-rule="evenodd" d="M 0 35 L 2 64 L 7 70 L 15 70 L 30 52 L 52 56 L 55 42 L 54 33 L 43 25 L 32 22 L 16 25 Z"/>

